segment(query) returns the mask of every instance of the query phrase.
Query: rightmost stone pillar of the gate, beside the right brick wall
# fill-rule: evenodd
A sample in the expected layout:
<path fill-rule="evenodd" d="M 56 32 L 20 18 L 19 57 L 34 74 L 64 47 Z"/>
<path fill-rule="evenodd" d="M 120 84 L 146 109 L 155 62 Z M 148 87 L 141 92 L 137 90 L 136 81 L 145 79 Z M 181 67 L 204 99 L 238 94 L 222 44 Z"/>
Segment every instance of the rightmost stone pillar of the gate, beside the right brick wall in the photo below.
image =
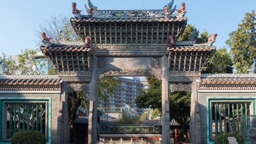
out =
<path fill-rule="evenodd" d="M 197 82 L 191 84 L 190 143 L 201 143 L 201 125 L 197 98 Z"/>

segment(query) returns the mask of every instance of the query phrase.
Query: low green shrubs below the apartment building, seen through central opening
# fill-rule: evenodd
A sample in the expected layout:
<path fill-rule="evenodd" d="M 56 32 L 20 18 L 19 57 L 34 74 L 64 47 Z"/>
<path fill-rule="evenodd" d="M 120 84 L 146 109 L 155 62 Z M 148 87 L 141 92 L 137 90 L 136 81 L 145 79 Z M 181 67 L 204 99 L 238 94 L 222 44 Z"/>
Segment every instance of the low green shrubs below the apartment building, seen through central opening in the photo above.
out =
<path fill-rule="evenodd" d="M 123 111 L 119 115 L 116 124 L 139 124 L 139 117 L 138 115 L 129 115 L 125 111 Z"/>

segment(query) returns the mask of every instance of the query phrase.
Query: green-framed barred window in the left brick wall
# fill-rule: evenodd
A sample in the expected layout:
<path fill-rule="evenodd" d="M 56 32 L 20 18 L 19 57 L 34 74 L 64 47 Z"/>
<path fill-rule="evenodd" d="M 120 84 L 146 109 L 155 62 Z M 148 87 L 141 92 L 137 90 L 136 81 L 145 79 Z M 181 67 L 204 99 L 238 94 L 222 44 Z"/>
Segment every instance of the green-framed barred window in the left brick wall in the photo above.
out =
<path fill-rule="evenodd" d="M 42 131 L 46 143 L 51 143 L 51 99 L 0 99 L 2 139 L 9 141 L 20 130 Z"/>

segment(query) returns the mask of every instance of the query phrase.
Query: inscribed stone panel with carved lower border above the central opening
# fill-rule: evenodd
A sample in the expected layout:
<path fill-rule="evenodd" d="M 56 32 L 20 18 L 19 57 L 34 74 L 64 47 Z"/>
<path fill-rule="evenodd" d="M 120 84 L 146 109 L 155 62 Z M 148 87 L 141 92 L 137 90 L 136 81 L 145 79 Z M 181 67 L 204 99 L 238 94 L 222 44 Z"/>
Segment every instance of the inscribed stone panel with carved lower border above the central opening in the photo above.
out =
<path fill-rule="evenodd" d="M 104 76 L 156 76 L 162 77 L 161 58 L 108 57 L 98 58 L 98 78 Z"/>

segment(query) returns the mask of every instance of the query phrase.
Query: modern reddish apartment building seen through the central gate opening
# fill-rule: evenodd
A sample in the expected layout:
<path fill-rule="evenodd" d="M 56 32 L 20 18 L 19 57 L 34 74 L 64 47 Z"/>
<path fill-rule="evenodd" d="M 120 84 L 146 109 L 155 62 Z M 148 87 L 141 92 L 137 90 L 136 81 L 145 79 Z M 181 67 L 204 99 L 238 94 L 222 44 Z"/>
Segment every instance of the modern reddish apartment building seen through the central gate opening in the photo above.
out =
<path fill-rule="evenodd" d="M 98 110 L 114 115 L 114 113 L 120 113 L 124 105 L 130 105 L 137 114 L 142 114 L 144 111 L 137 107 L 135 99 L 143 92 L 143 89 L 143 83 L 136 77 L 133 79 L 120 78 L 115 95 L 108 96 L 106 101 L 101 101 Z"/>

